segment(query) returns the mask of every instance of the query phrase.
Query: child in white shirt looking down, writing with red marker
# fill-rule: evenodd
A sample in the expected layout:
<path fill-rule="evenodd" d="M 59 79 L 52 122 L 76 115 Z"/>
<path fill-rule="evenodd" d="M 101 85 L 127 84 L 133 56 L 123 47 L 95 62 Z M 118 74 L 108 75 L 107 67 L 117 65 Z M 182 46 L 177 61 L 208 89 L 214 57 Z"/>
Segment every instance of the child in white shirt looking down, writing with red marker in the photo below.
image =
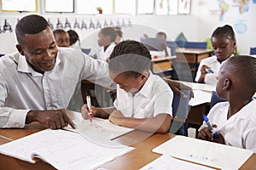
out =
<path fill-rule="evenodd" d="M 119 42 L 109 59 L 109 76 L 118 84 L 114 107 L 91 106 L 89 110 L 119 126 L 167 133 L 172 120 L 173 93 L 166 82 L 149 71 L 148 48 L 141 42 Z M 84 105 L 84 118 L 88 113 Z"/>

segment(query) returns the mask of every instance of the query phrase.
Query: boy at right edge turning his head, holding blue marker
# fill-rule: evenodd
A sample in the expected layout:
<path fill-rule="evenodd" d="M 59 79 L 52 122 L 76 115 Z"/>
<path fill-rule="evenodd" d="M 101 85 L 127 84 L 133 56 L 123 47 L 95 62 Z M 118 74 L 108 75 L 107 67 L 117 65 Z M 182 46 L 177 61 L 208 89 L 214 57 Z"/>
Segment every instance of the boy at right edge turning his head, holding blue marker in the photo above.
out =
<path fill-rule="evenodd" d="M 216 91 L 220 99 L 227 99 L 214 105 L 208 118 L 216 127 L 218 137 L 204 122 L 198 138 L 221 144 L 228 144 L 256 152 L 256 59 L 237 55 L 227 59 L 220 67 Z"/>

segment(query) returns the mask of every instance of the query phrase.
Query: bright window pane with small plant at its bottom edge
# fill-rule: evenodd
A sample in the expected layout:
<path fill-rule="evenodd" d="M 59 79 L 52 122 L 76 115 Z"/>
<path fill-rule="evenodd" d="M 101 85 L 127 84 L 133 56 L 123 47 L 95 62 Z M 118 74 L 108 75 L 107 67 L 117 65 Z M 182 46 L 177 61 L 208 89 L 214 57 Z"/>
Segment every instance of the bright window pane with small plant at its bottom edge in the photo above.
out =
<path fill-rule="evenodd" d="M 78 14 L 99 14 L 96 8 L 102 8 L 102 14 L 112 14 L 113 0 L 77 0 Z"/>

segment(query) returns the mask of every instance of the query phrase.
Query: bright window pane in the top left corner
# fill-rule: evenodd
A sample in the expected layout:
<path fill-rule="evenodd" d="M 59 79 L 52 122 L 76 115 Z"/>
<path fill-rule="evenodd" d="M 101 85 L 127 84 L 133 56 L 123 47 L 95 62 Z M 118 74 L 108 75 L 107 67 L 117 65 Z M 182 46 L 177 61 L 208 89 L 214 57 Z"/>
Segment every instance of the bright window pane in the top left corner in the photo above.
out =
<path fill-rule="evenodd" d="M 3 12 L 37 12 L 37 0 L 1 0 Z"/>

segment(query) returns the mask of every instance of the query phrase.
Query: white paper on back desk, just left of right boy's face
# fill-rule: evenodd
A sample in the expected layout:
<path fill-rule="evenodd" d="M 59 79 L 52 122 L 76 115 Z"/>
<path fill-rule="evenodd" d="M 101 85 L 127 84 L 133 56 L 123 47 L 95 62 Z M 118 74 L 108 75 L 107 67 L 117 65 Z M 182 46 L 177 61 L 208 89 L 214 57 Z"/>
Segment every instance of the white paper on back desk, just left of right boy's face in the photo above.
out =
<path fill-rule="evenodd" d="M 201 90 L 193 90 L 193 93 L 194 98 L 189 100 L 189 105 L 195 106 L 211 102 L 212 94 L 203 92 Z"/>

